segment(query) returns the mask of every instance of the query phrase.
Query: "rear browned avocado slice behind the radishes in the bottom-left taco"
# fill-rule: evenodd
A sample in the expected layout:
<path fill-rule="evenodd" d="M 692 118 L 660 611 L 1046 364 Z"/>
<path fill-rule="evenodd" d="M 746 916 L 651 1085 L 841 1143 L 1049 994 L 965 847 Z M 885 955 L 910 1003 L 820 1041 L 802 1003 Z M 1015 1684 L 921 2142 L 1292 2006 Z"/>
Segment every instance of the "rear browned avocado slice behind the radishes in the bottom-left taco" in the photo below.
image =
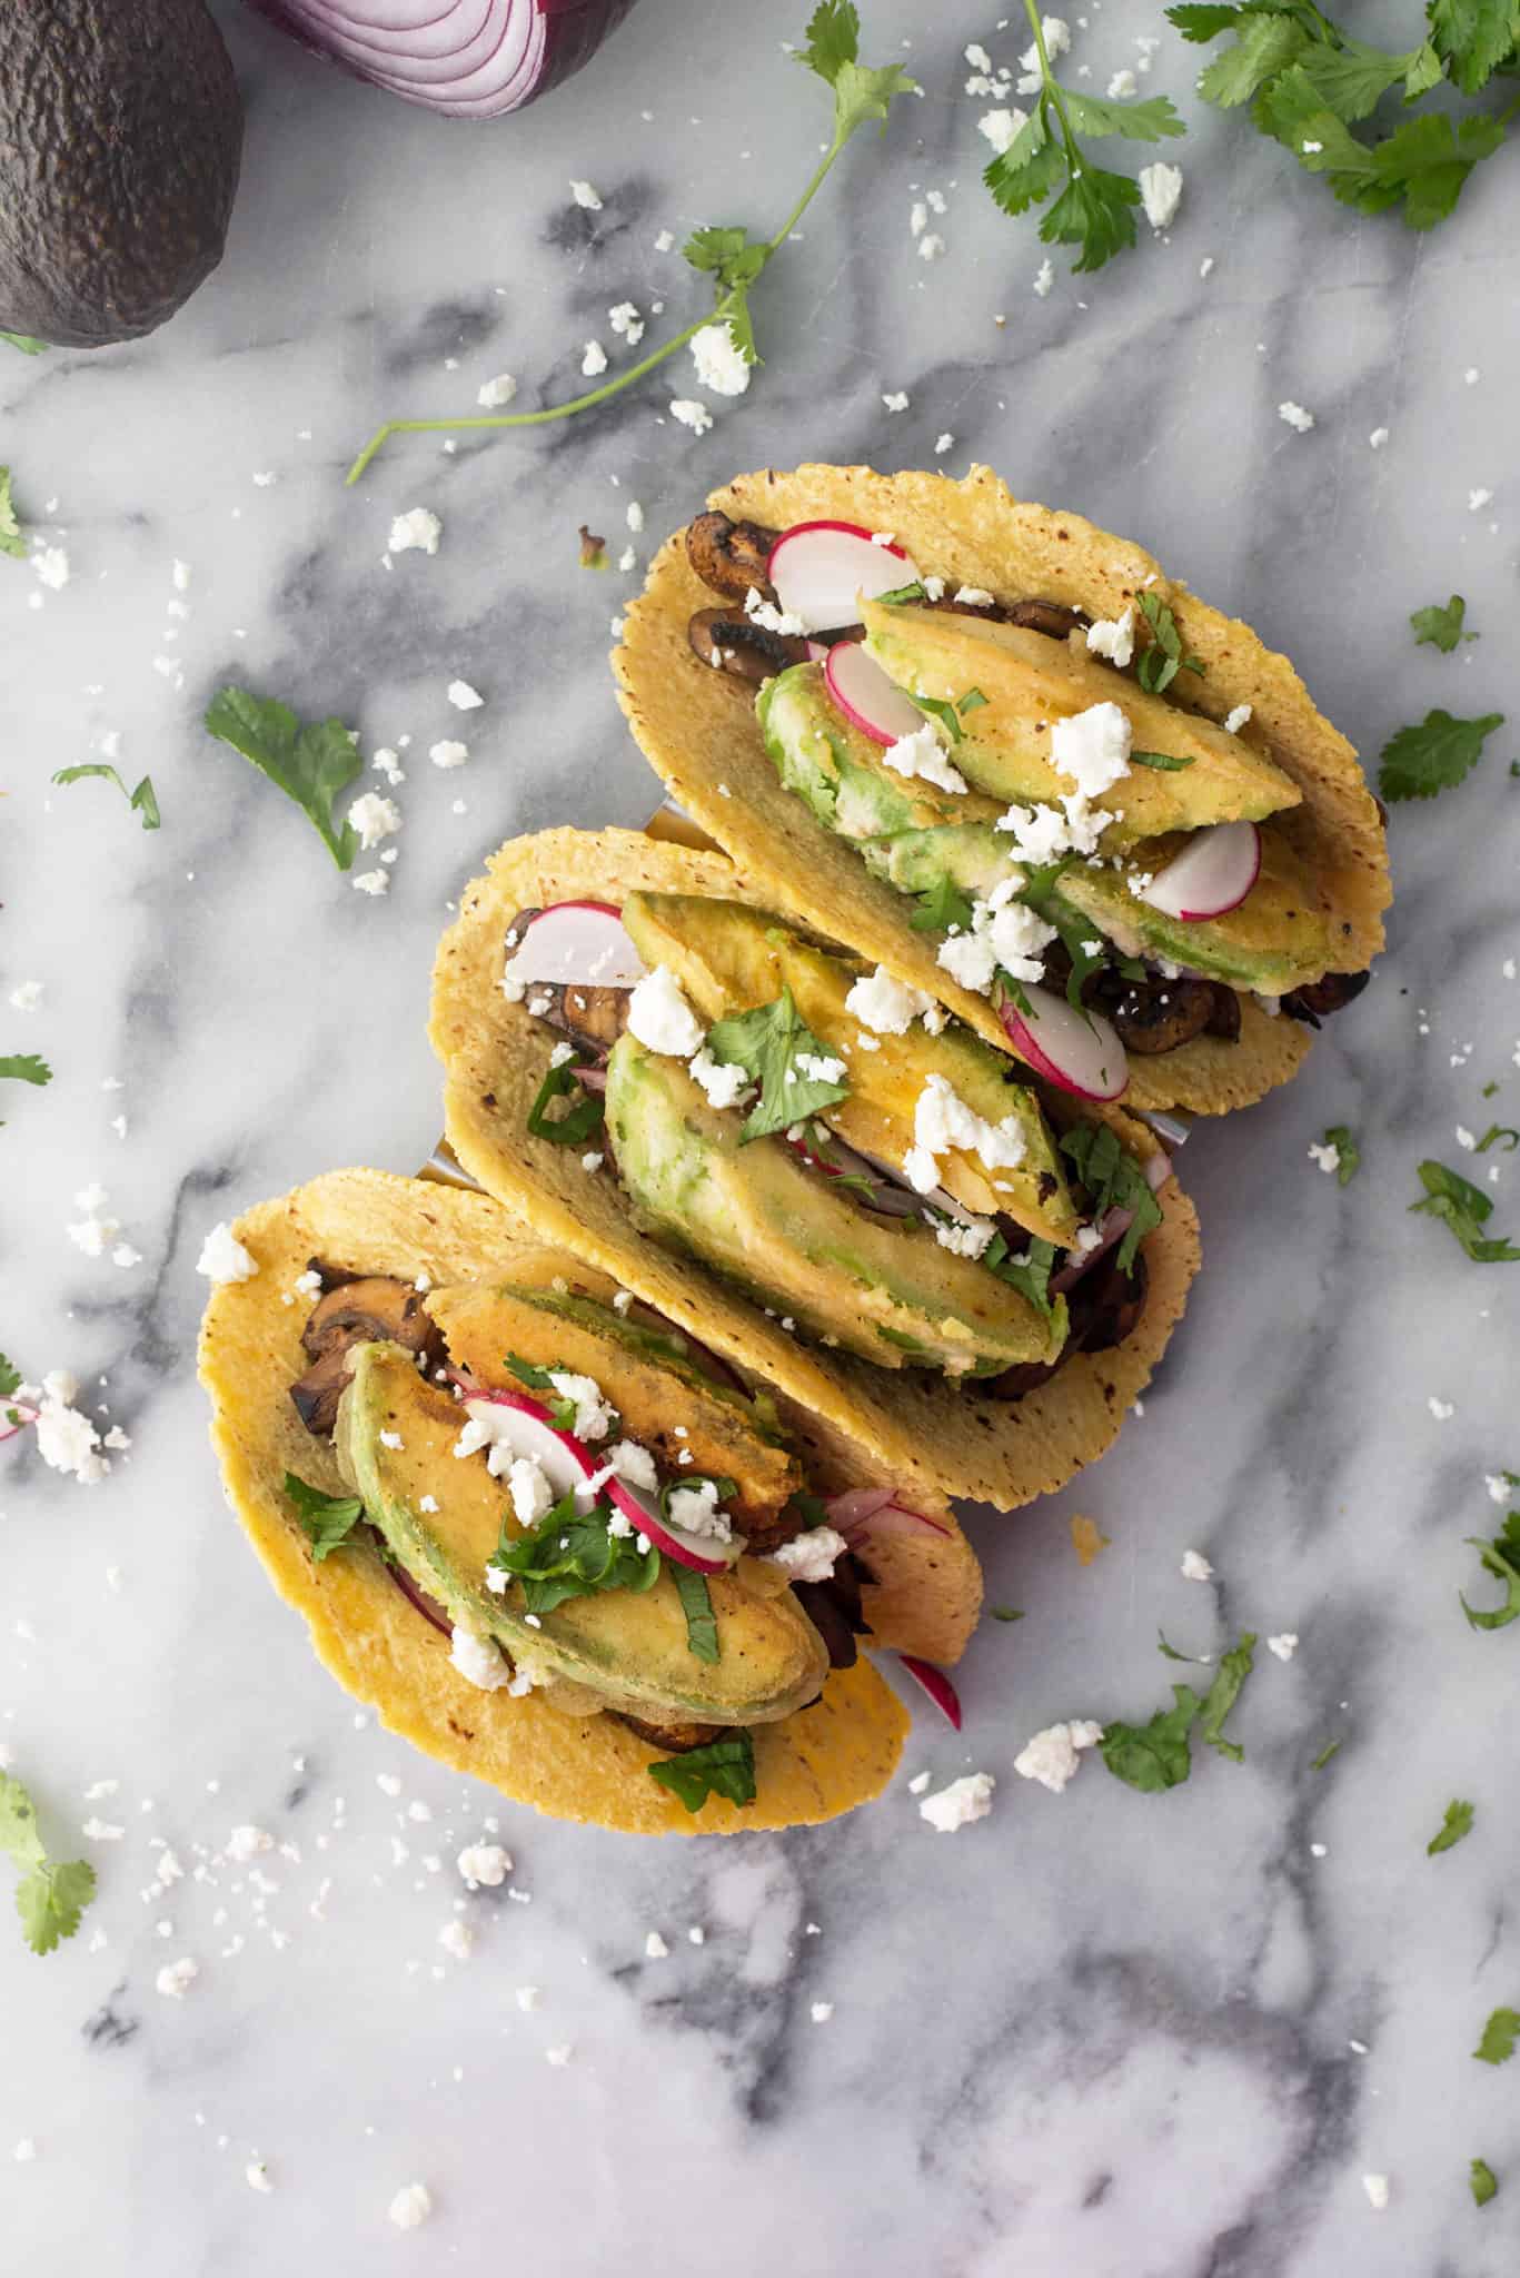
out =
<path fill-rule="evenodd" d="M 702 1374 L 675 1328 L 627 1321 L 563 1280 L 558 1289 L 520 1283 L 433 1289 L 426 1303 L 451 1362 L 476 1383 L 515 1385 L 508 1353 L 540 1369 L 572 1369 L 595 1378 L 622 1417 L 622 1435 L 647 1447 L 661 1472 L 732 1478 L 736 1494 L 727 1510 L 741 1535 L 773 1524 L 802 1488 L 798 1458 L 763 1428 L 743 1392 Z"/>

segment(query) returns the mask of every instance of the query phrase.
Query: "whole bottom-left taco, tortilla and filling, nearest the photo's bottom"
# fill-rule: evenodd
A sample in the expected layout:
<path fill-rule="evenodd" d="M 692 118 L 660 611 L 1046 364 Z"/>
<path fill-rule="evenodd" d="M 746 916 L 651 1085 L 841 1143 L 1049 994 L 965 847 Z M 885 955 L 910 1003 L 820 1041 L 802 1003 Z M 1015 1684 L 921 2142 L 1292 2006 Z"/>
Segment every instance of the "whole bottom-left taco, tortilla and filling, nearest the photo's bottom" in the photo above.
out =
<path fill-rule="evenodd" d="M 255 1271 L 201 1330 L 226 1494 L 392 1731 L 634 1834 L 882 1791 L 907 1718 L 857 1640 L 948 1663 L 980 1606 L 941 1497 L 827 1419 L 802 1440 L 485 1196 L 333 1171 L 235 1235 Z"/>

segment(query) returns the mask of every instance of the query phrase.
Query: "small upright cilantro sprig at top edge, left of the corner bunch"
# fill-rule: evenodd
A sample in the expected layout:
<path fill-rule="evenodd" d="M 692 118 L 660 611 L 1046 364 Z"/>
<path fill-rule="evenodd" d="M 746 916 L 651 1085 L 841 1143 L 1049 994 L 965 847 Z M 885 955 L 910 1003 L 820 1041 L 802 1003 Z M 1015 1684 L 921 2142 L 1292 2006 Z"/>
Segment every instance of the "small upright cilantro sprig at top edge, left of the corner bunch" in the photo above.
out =
<path fill-rule="evenodd" d="M 1046 246 L 1078 246 L 1073 269 L 1101 269 L 1135 244 L 1139 182 L 1128 173 L 1094 166 L 1087 141 L 1121 137 L 1158 144 L 1185 134 L 1167 96 L 1114 103 L 1062 87 L 1051 68 L 1051 50 L 1035 0 L 1023 0 L 1035 32 L 1039 98 L 1007 150 L 991 159 L 982 180 L 1005 214 L 1028 214 L 1046 205 L 1039 237 Z M 1053 196 L 1060 191 L 1060 196 Z"/>

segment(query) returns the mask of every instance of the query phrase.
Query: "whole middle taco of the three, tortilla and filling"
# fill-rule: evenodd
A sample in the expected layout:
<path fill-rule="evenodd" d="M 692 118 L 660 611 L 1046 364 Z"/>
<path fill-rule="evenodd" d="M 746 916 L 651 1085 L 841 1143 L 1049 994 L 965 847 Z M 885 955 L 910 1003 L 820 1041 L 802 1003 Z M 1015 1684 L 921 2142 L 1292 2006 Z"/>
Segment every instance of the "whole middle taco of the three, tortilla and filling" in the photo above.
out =
<path fill-rule="evenodd" d="M 488 1194 L 921 1492 L 1060 1488 L 1183 1310 L 1196 1219 L 1142 1123 L 1041 1091 L 711 847 L 508 843 L 431 1034 Z"/>

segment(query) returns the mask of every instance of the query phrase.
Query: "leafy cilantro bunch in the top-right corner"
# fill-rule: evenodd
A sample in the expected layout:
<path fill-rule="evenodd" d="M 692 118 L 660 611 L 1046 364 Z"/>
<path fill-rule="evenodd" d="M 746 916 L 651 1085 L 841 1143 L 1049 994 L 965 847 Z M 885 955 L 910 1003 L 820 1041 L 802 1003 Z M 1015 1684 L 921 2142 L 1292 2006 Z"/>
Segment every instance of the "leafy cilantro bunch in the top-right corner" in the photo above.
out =
<path fill-rule="evenodd" d="M 1180 5 L 1167 18 L 1183 39 L 1231 43 L 1206 66 L 1199 93 L 1219 109 L 1251 105 L 1256 128 L 1306 173 L 1324 175 L 1342 205 L 1381 214 L 1399 205 L 1411 230 L 1454 210 L 1468 175 L 1504 144 L 1520 105 L 1499 114 L 1422 112 L 1372 137 L 1354 125 L 1399 93 L 1420 103 L 1449 82 L 1477 96 L 1518 64 L 1513 0 L 1427 0 L 1427 36 L 1408 50 L 1374 48 L 1342 32 L 1313 0 Z"/>

